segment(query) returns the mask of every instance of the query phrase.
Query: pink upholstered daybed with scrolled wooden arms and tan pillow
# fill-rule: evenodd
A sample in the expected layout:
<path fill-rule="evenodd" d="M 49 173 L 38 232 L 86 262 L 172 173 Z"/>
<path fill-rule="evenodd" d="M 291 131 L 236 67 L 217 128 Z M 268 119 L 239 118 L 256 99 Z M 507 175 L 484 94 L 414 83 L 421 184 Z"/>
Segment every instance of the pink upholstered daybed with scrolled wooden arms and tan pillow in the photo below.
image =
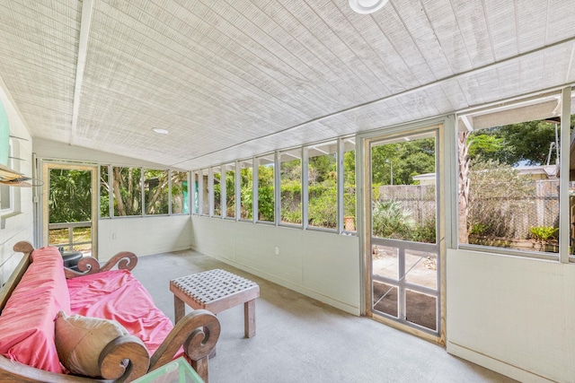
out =
<path fill-rule="evenodd" d="M 131 381 L 172 361 L 182 346 L 208 381 L 217 318 L 196 310 L 173 326 L 130 273 L 134 254 L 119 253 L 102 267 L 84 257 L 75 272 L 57 248 L 19 242 L 14 251 L 24 257 L 0 290 L 1 381 Z M 95 360 L 82 370 L 86 358 Z M 70 372 L 78 370 L 91 378 Z"/>

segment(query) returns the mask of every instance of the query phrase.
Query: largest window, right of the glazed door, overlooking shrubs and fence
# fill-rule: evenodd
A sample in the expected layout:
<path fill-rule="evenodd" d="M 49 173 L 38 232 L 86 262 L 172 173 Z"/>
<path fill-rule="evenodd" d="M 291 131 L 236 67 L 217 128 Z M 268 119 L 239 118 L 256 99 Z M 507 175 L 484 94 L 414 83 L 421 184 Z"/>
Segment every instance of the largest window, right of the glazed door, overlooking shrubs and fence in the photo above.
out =
<path fill-rule="evenodd" d="M 559 252 L 561 110 L 555 93 L 458 117 L 461 245 Z"/>

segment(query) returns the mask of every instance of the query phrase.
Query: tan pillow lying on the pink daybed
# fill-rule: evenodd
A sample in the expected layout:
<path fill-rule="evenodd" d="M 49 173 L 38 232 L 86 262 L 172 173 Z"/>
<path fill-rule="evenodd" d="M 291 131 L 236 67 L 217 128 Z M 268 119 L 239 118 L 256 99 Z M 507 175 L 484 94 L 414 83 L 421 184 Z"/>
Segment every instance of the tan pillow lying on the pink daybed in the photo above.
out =
<path fill-rule="evenodd" d="M 64 311 L 57 314 L 57 354 L 64 367 L 74 374 L 100 377 L 100 353 L 120 335 L 128 335 L 128 331 L 115 320 L 68 317 Z"/>

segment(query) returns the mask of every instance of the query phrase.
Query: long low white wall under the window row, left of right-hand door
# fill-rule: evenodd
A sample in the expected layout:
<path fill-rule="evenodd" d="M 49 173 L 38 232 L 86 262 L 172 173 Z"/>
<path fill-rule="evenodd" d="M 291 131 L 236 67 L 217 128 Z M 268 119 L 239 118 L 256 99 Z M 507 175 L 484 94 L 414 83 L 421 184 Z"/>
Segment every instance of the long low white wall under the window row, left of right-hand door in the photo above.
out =
<path fill-rule="evenodd" d="M 196 215 L 191 221 L 197 251 L 359 315 L 357 237 Z"/>

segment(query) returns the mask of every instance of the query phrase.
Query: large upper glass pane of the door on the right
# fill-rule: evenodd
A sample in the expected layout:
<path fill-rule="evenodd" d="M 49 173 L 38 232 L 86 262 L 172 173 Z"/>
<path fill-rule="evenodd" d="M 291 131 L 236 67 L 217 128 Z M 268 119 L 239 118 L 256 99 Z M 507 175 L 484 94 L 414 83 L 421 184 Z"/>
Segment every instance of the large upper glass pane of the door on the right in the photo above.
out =
<path fill-rule="evenodd" d="M 436 243 L 435 147 L 435 133 L 403 135 L 372 144 L 373 237 Z"/>

